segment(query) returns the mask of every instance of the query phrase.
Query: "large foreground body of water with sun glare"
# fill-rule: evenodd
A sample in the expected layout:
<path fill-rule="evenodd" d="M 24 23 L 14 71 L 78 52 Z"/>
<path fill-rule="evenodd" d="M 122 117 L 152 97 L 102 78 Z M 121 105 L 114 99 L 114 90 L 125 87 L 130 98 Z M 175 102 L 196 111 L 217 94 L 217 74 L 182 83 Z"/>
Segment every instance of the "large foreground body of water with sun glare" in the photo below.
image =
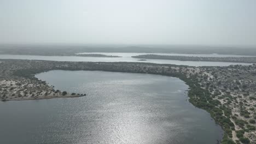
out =
<path fill-rule="evenodd" d="M 186 101 L 179 79 L 54 70 L 38 74 L 81 98 L 0 103 L 0 143 L 216 143 L 222 130 Z"/>

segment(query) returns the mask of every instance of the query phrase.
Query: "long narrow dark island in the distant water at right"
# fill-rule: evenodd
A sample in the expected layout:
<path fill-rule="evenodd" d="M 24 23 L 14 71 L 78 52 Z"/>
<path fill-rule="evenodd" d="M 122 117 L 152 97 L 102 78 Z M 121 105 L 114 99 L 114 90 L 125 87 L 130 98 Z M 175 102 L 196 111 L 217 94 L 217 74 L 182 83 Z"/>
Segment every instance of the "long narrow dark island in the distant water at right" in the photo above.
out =
<path fill-rule="evenodd" d="M 204 62 L 232 62 L 256 63 L 256 57 L 193 57 L 193 56 L 166 56 L 166 55 L 138 55 L 133 58 L 168 59 L 177 61 L 204 61 Z"/>

